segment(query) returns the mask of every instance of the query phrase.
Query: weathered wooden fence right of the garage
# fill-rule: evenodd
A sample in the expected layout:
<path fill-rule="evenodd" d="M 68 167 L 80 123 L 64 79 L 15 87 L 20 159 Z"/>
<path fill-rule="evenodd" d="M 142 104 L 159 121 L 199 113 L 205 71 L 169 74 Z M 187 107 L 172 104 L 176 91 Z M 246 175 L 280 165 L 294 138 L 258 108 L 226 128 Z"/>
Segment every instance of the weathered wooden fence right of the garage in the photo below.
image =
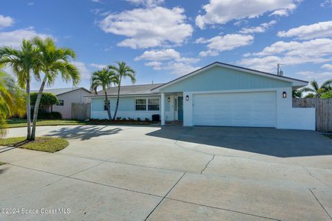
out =
<path fill-rule="evenodd" d="M 316 131 L 332 133 L 332 99 L 293 98 L 294 108 L 316 108 Z"/>

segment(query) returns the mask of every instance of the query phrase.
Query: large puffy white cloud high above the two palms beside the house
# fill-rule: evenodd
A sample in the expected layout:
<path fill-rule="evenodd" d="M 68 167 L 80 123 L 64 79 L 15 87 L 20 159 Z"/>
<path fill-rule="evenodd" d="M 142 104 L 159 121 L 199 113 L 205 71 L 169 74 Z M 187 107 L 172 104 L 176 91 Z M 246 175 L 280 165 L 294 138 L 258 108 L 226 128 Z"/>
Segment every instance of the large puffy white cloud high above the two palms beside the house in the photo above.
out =
<path fill-rule="evenodd" d="M 128 37 L 118 46 L 151 48 L 167 44 L 182 44 L 192 35 L 192 26 L 185 23 L 183 8 L 138 8 L 110 14 L 100 21 L 107 33 Z"/>

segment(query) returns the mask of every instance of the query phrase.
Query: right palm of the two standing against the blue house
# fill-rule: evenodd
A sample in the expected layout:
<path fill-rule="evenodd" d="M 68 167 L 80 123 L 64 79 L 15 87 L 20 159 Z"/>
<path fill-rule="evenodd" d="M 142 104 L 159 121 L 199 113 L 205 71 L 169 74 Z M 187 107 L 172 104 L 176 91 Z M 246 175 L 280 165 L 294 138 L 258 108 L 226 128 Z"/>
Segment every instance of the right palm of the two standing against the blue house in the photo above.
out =
<path fill-rule="evenodd" d="M 116 84 L 118 85 L 118 98 L 116 99 L 116 111 L 114 112 L 113 120 L 116 119 L 116 113 L 118 112 L 120 88 L 122 77 L 129 77 L 132 84 L 135 84 L 135 70 L 127 66 L 126 62 L 117 62 L 118 66 L 108 66 L 109 70 L 116 76 Z"/>

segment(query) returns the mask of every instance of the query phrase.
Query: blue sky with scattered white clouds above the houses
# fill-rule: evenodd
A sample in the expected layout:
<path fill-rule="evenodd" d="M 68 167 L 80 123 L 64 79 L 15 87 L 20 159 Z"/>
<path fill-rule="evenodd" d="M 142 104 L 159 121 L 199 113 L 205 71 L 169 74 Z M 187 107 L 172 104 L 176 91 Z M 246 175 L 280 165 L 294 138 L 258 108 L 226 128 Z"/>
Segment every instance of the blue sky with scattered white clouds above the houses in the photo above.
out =
<path fill-rule="evenodd" d="M 19 48 L 36 35 L 75 50 L 85 88 L 93 71 L 116 61 L 136 70 L 136 84 L 165 83 L 214 61 L 275 74 L 279 63 L 287 77 L 332 78 L 332 0 L 0 0 L 0 46 Z M 71 86 L 57 78 L 49 87 Z"/>

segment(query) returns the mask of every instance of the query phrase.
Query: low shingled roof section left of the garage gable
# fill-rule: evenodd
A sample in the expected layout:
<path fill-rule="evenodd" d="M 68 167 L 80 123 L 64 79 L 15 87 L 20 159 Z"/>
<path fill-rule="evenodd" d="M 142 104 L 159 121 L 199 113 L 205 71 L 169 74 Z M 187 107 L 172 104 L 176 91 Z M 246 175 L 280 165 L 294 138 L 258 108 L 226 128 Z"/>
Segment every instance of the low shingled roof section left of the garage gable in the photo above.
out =
<path fill-rule="evenodd" d="M 164 84 L 139 84 L 139 85 L 127 85 L 120 87 L 120 95 L 156 95 L 156 93 L 152 91 L 153 88 L 163 86 Z M 114 86 L 111 88 L 107 88 L 108 96 L 118 95 L 118 87 Z M 104 90 L 99 90 L 97 94 L 93 94 L 88 97 L 100 97 L 104 96 Z"/>

